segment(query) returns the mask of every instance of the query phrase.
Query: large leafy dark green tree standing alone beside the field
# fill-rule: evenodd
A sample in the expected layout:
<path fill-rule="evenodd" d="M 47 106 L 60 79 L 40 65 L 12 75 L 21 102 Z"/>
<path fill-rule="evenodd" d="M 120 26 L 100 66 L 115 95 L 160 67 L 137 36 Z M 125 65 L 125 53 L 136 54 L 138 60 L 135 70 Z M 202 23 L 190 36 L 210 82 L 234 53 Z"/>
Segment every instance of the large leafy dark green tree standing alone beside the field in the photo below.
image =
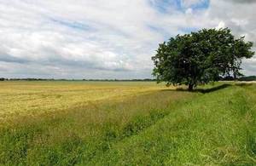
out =
<path fill-rule="evenodd" d="M 228 28 L 177 35 L 160 43 L 152 57 L 153 75 L 167 85 L 184 83 L 189 90 L 219 77 L 236 78 L 241 76 L 241 60 L 253 57 L 252 47 L 252 42 L 234 37 Z"/>

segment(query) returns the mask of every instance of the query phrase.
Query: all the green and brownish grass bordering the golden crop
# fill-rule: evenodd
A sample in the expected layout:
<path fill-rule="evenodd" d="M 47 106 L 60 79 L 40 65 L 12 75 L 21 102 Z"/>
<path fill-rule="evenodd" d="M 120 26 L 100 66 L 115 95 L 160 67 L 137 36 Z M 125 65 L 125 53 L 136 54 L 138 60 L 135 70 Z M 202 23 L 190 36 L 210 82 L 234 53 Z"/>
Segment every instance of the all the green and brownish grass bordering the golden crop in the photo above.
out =
<path fill-rule="evenodd" d="M 159 91 L 6 123 L 0 163 L 255 165 L 255 118 L 255 84 Z"/>

